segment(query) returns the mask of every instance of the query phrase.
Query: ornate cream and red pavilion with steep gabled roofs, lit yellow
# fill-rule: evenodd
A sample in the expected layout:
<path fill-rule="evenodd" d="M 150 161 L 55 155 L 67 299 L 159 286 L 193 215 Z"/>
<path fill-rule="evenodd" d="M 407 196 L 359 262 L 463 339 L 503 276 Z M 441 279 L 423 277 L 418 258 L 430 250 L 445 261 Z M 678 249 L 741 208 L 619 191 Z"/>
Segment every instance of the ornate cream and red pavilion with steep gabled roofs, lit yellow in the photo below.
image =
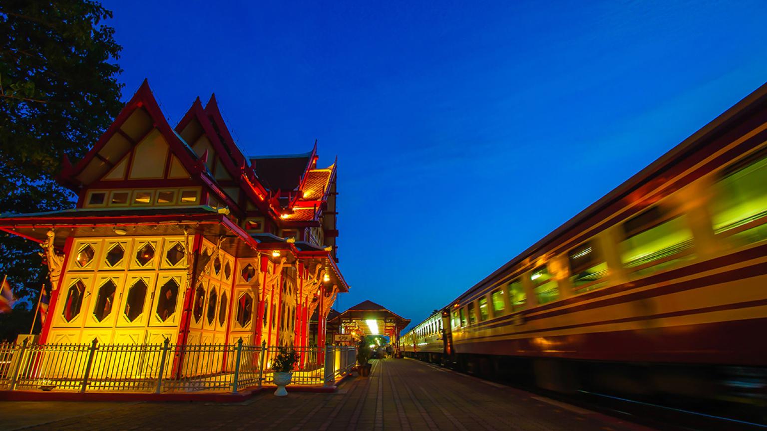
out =
<path fill-rule="evenodd" d="M 265 150 L 276 150 L 275 146 Z M 339 292 L 336 164 L 317 146 L 245 156 L 211 97 L 171 127 L 144 81 L 58 180 L 74 209 L 0 216 L 40 243 L 50 313 L 38 343 L 318 345 Z"/>

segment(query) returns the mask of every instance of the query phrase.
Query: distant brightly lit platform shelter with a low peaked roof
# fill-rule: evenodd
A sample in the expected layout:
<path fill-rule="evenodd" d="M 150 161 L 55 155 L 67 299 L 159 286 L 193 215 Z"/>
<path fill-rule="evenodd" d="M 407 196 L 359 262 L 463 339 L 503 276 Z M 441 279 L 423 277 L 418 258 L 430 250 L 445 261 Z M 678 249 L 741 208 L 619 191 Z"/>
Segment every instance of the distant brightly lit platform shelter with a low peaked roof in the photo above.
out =
<path fill-rule="evenodd" d="M 384 335 L 396 346 L 400 331 L 408 324 L 410 319 L 373 301 L 364 301 L 329 320 L 328 331 L 333 331 L 339 342 L 354 343 L 370 335 Z"/>

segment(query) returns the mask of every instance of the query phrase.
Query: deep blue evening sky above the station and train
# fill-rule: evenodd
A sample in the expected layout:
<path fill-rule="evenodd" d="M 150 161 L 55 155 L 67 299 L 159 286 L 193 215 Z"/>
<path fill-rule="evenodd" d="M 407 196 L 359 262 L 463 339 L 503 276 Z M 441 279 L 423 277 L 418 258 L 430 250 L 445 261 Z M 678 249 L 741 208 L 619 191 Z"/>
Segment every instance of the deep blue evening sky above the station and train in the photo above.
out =
<path fill-rule="evenodd" d="M 341 311 L 417 323 L 767 81 L 763 1 L 404 3 L 104 2 L 123 99 L 338 156 Z"/>

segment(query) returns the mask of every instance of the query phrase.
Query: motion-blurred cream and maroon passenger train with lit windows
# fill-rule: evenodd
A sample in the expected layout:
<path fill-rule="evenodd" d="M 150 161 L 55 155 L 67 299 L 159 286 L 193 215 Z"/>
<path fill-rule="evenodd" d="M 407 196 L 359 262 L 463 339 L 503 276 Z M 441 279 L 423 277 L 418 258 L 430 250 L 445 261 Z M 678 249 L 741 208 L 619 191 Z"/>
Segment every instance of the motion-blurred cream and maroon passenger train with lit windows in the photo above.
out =
<path fill-rule="evenodd" d="M 767 84 L 416 325 L 404 354 L 764 421 L 765 141 Z"/>

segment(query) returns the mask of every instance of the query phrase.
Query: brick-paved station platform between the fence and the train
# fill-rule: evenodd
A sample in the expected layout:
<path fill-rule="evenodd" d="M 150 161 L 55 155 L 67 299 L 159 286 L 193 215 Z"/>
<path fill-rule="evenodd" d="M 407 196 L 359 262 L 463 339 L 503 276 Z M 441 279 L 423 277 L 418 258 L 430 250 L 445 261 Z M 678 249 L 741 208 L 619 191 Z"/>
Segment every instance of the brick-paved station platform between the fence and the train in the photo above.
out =
<path fill-rule="evenodd" d="M 243 403 L 3 402 L 0 429 L 487 429 L 637 431 L 642 426 L 416 360 L 387 359 L 337 393 Z"/>

